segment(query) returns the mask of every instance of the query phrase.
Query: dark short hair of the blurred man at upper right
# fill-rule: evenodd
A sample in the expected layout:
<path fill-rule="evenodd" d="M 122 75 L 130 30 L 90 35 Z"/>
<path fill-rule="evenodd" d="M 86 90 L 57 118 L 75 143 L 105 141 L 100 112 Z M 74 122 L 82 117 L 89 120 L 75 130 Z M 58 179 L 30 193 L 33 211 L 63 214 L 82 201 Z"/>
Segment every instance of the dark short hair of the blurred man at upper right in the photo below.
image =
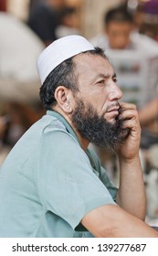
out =
<path fill-rule="evenodd" d="M 108 25 L 112 21 L 133 23 L 133 17 L 125 7 L 115 7 L 109 10 L 104 16 L 104 24 Z"/>

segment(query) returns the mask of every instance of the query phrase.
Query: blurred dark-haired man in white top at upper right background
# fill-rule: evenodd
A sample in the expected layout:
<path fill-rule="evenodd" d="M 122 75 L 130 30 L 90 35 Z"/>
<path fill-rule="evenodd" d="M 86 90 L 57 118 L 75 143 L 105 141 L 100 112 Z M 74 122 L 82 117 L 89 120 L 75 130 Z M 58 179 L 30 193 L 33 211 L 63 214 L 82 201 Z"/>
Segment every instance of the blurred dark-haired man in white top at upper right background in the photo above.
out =
<path fill-rule="evenodd" d="M 135 49 L 142 52 L 158 52 L 157 43 L 150 37 L 141 35 L 135 28 L 132 15 L 123 5 L 111 8 L 103 17 L 103 31 L 92 37 L 93 46 L 104 49 Z"/>

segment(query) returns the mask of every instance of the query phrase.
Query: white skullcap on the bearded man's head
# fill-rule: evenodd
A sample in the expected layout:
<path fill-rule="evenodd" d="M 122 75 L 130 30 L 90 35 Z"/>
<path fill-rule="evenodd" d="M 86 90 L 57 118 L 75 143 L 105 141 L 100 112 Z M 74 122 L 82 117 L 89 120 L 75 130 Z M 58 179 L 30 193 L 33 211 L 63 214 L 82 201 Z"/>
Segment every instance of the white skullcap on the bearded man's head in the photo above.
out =
<path fill-rule="evenodd" d="M 41 84 L 46 80 L 49 73 L 61 62 L 81 52 L 92 50 L 94 47 L 81 36 L 61 37 L 45 48 L 37 59 L 37 71 Z"/>

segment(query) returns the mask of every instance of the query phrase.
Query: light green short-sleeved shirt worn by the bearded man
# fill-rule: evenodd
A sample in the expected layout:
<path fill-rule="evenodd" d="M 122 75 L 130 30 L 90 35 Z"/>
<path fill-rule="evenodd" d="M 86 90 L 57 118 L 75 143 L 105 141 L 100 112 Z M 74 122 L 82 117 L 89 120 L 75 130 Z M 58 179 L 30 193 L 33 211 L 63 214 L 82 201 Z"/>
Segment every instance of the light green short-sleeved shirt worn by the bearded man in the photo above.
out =
<path fill-rule="evenodd" d="M 115 204 L 116 192 L 97 155 L 83 151 L 67 121 L 48 111 L 0 170 L 0 237 L 90 237 L 80 220 Z"/>

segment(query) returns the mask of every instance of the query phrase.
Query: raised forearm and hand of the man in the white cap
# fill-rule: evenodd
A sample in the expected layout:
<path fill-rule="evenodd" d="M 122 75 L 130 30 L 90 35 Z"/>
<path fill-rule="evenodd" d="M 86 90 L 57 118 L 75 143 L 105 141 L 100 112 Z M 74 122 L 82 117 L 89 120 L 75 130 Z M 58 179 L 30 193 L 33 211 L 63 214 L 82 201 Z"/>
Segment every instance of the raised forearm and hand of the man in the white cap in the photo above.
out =
<path fill-rule="evenodd" d="M 139 159 L 141 126 L 135 105 L 121 103 L 119 118 L 123 122 L 122 128 L 125 131 L 125 138 L 124 143 L 117 149 L 120 165 L 120 187 L 117 203 L 133 216 L 144 219 L 146 197 Z"/>

